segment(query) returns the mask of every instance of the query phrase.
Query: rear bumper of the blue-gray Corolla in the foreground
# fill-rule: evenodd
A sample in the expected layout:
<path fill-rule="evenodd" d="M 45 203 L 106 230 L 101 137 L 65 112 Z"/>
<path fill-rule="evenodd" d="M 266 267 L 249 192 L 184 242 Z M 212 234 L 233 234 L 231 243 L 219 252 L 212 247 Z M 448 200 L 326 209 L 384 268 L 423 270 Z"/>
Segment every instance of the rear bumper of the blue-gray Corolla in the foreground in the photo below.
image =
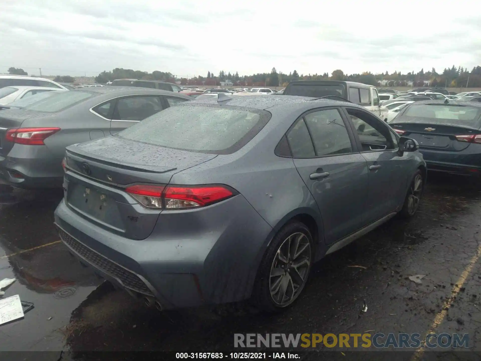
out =
<path fill-rule="evenodd" d="M 189 223 L 165 213 L 159 219 L 167 221 L 158 221 L 142 241 L 88 222 L 64 201 L 55 224 L 82 263 L 132 295 L 157 298 L 164 309 L 250 297 L 272 228 L 241 195 L 189 211 Z"/>

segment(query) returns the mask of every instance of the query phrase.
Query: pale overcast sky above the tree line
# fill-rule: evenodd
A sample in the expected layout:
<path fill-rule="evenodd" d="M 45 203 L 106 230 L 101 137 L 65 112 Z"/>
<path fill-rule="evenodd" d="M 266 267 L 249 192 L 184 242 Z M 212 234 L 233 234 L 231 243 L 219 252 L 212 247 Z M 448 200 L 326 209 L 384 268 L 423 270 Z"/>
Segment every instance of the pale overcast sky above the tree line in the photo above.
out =
<path fill-rule="evenodd" d="M 481 65 L 481 12 L 453 1 L 1 0 L 0 73 L 177 77 L 407 73 Z"/>

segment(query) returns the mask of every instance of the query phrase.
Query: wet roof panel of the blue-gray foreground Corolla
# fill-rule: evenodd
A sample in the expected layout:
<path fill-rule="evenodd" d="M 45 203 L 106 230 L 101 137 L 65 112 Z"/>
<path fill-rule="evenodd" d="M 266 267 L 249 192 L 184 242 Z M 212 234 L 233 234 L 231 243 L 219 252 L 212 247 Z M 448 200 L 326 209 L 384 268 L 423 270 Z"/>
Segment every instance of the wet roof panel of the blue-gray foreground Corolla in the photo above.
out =
<path fill-rule="evenodd" d="M 238 106 L 244 108 L 253 108 L 258 110 L 267 110 L 267 109 L 282 109 L 285 108 L 286 110 L 305 110 L 316 108 L 317 107 L 326 107 L 326 106 L 350 106 L 350 107 L 357 107 L 361 109 L 365 109 L 360 105 L 350 103 L 350 102 L 342 102 L 332 99 L 316 99 L 311 97 L 302 97 L 296 95 L 282 95 L 282 96 L 272 96 L 269 94 L 261 94 L 261 95 L 246 95 L 246 96 L 236 96 L 227 95 L 226 97 L 231 98 L 228 101 L 221 101 L 217 102 L 218 98 L 212 97 L 210 99 L 202 99 L 202 100 L 193 100 L 189 102 L 189 104 L 222 104 L 222 105 L 229 105 L 229 106 Z M 225 97 L 224 97 L 225 98 Z M 180 104 L 181 105 L 181 104 Z"/>

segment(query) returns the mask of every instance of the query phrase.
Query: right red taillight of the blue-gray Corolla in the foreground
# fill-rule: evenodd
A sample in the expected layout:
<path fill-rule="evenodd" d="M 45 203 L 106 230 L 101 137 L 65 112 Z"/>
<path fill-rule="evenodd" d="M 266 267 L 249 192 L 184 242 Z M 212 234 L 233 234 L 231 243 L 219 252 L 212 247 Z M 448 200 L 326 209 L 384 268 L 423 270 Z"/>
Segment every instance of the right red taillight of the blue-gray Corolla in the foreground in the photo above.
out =
<path fill-rule="evenodd" d="M 223 185 L 163 186 L 134 185 L 125 190 L 141 205 L 149 208 L 185 209 L 208 206 L 233 196 Z"/>

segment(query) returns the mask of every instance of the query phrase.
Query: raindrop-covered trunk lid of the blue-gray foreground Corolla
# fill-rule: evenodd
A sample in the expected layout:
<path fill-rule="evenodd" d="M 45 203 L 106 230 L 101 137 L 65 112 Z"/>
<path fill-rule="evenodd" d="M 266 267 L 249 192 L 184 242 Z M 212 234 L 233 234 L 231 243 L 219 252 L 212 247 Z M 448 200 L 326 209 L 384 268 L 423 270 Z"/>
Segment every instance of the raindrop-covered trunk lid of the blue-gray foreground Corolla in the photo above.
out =
<path fill-rule="evenodd" d="M 141 206 L 125 192 L 127 185 L 166 185 L 175 173 L 215 156 L 120 137 L 69 146 L 65 201 L 77 214 L 110 232 L 145 239 L 162 210 Z"/>

